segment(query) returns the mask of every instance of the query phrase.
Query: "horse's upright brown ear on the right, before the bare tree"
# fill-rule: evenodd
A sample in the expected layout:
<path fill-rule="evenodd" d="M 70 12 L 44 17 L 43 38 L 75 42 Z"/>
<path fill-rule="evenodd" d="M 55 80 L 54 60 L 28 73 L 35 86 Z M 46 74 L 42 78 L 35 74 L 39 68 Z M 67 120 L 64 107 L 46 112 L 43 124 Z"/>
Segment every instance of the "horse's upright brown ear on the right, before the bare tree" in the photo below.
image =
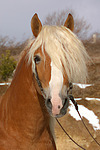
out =
<path fill-rule="evenodd" d="M 74 30 L 74 19 L 73 19 L 73 16 L 71 14 L 68 15 L 64 26 L 69 28 L 71 31 Z"/>

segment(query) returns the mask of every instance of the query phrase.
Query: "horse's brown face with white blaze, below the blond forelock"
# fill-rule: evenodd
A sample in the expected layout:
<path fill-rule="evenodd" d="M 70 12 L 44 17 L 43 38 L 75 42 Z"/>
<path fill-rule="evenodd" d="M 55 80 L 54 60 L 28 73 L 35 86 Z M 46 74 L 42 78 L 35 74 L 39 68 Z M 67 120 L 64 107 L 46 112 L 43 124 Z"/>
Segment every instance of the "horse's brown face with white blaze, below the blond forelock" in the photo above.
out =
<path fill-rule="evenodd" d="M 34 53 L 33 61 L 35 86 L 39 94 L 44 96 L 48 112 L 55 117 L 65 115 L 69 102 L 67 74 L 57 68 L 45 50 L 42 52 L 42 47 Z"/>

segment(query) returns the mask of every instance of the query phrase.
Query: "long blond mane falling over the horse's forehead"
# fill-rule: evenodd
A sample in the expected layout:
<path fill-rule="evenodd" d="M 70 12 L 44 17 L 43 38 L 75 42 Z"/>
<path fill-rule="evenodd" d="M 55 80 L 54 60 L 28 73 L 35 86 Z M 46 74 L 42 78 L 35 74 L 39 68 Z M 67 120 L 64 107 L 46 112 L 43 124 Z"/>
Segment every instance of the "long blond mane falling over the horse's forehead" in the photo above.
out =
<path fill-rule="evenodd" d="M 43 26 L 29 51 L 29 61 L 40 46 L 60 70 L 64 66 L 70 82 L 86 81 L 89 56 L 82 42 L 68 28 Z"/>

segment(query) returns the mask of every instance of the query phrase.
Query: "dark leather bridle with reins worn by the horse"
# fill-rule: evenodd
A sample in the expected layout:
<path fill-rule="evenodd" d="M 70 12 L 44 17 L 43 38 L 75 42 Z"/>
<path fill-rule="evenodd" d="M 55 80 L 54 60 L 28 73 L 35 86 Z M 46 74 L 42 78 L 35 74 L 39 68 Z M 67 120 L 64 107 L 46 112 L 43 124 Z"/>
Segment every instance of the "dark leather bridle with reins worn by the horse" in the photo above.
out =
<path fill-rule="evenodd" d="M 34 61 L 34 60 L 33 60 L 33 61 Z M 35 74 L 35 78 L 36 78 L 36 81 L 37 81 L 37 83 L 38 83 L 38 86 L 39 86 L 39 88 L 40 88 L 40 91 L 41 91 L 41 93 L 42 93 L 42 96 L 43 96 L 44 99 L 45 99 L 45 98 L 46 98 L 46 94 L 45 94 L 45 91 L 44 91 L 44 89 L 43 89 L 43 87 L 42 87 L 42 84 L 41 84 L 41 82 L 40 82 L 40 79 L 39 79 L 39 76 L 38 76 L 38 72 L 37 72 L 35 63 L 34 63 L 34 73 L 33 73 L 33 75 L 34 75 L 34 74 Z M 72 88 L 73 88 L 73 85 L 72 85 L 72 83 L 70 82 L 70 83 L 69 83 L 69 88 L 68 88 L 68 90 L 67 90 L 67 98 L 68 98 L 69 100 L 71 100 L 72 103 L 74 104 L 75 109 L 76 109 L 76 111 L 77 111 L 77 113 L 78 113 L 78 115 L 79 115 L 79 117 L 80 117 L 80 119 L 81 119 L 81 121 L 82 121 L 84 127 L 86 128 L 86 130 L 88 131 L 88 133 L 90 134 L 90 136 L 92 137 L 92 139 L 95 141 L 95 143 L 96 143 L 98 146 L 100 146 L 100 143 L 93 137 L 93 135 L 91 134 L 91 132 L 90 132 L 89 129 L 87 128 L 86 124 L 84 123 L 84 121 L 83 121 L 83 119 L 82 119 L 82 117 L 81 117 L 81 115 L 80 115 L 80 113 L 79 113 L 78 104 L 77 104 L 77 102 L 75 101 L 75 99 L 74 99 L 74 97 L 73 97 L 73 95 L 72 95 Z M 69 94 L 69 92 L 70 92 L 71 94 Z M 62 130 L 64 131 L 64 133 L 65 133 L 78 147 L 80 147 L 80 148 L 83 149 L 83 150 L 86 150 L 86 149 L 83 148 L 81 145 L 79 145 L 76 141 L 74 141 L 74 140 L 71 138 L 71 136 L 69 136 L 69 134 L 68 134 L 68 133 L 66 132 L 66 130 L 62 127 L 61 123 L 59 122 L 59 120 L 58 120 L 57 118 L 56 118 L 56 121 L 58 122 L 59 126 L 62 128 Z"/>

